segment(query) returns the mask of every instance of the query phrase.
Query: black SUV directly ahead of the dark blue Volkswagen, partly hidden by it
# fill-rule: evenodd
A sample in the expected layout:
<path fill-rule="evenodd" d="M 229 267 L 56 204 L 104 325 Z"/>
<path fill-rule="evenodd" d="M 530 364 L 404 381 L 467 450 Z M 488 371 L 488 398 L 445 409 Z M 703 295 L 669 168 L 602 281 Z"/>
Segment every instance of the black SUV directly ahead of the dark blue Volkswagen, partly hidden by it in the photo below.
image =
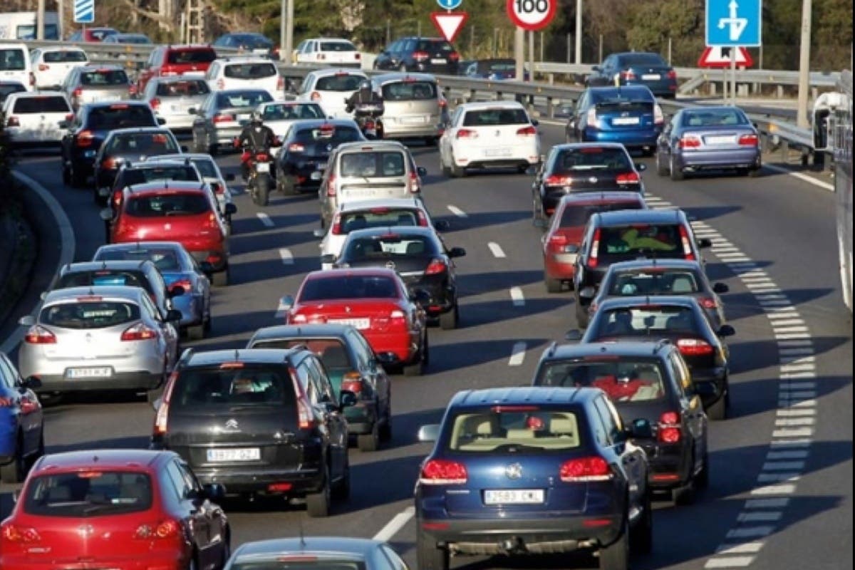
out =
<path fill-rule="evenodd" d="M 651 438 L 633 438 L 647 453 L 652 491 L 687 504 L 709 482 L 709 424 L 686 361 L 668 340 L 553 343 L 540 357 L 534 385 L 599 388 L 629 424 L 643 418 L 654 426 Z"/>

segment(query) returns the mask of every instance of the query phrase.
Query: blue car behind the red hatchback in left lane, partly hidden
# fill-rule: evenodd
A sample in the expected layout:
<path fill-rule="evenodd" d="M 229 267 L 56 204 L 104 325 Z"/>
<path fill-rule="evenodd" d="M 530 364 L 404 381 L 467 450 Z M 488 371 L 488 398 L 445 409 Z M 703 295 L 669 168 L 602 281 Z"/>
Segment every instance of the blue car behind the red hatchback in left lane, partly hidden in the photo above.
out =
<path fill-rule="evenodd" d="M 181 311 L 179 325 L 190 339 L 203 338 L 211 327 L 211 285 L 198 263 L 178 242 L 134 242 L 102 245 L 92 261 L 151 261 L 162 275 L 172 297 L 172 307 Z M 178 294 L 176 291 L 182 291 Z"/>

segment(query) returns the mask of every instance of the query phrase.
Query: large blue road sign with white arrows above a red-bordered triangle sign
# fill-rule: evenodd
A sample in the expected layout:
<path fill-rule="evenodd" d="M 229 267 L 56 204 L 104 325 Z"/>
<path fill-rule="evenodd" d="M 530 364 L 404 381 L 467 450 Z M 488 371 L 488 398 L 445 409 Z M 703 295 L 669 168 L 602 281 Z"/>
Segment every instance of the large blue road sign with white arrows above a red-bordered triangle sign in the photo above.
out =
<path fill-rule="evenodd" d="M 763 0 L 706 0 L 706 44 L 758 47 Z"/>

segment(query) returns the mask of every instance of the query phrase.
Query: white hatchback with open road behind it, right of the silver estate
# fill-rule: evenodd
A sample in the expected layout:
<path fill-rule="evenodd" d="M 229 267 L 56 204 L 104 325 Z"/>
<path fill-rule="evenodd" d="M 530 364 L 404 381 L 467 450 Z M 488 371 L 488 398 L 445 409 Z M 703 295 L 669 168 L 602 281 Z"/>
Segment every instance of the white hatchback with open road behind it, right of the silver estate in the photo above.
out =
<path fill-rule="evenodd" d="M 516 101 L 458 105 L 439 138 L 439 166 L 451 176 L 464 176 L 467 168 L 524 173 L 540 162 L 537 124 Z"/>

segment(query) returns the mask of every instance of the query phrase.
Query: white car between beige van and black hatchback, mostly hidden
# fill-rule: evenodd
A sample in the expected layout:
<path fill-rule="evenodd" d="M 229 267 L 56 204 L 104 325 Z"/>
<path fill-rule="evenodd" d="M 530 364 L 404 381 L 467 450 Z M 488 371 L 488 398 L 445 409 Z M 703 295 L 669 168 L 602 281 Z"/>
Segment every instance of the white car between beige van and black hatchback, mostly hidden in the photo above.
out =
<path fill-rule="evenodd" d="M 445 220 L 433 221 L 420 198 L 383 198 L 342 203 L 333 214 L 326 230 L 315 230 L 321 238 L 321 257 L 341 255 L 347 234 L 353 230 L 383 226 L 433 226 L 440 232 L 448 228 Z M 332 269 L 332 263 L 321 262 L 321 269 Z"/>

